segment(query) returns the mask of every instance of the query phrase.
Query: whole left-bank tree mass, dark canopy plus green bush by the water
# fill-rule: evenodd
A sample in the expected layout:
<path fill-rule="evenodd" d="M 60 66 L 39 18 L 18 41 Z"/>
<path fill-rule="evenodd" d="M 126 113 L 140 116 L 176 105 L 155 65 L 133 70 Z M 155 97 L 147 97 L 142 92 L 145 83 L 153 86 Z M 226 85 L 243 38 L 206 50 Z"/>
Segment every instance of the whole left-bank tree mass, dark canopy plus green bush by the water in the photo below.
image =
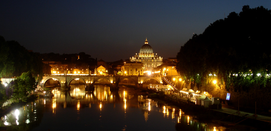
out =
<path fill-rule="evenodd" d="M 5 101 L 26 101 L 42 80 L 43 66 L 39 53 L 28 51 L 16 41 L 0 36 L 0 78 L 16 78 L 8 85 L 0 84 L 0 107 Z"/>

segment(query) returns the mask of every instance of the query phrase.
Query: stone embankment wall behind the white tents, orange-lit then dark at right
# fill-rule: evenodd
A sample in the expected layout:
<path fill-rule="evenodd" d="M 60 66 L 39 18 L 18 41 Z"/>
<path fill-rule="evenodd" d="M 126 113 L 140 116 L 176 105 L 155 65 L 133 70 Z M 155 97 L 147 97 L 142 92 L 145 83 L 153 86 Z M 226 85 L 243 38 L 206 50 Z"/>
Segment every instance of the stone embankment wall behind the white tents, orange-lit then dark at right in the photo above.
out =
<path fill-rule="evenodd" d="M 174 76 L 167 76 L 167 79 L 170 80 L 173 85 L 176 85 L 176 88 L 181 90 L 183 88 L 193 89 L 194 91 L 207 91 L 213 95 L 213 97 L 220 97 L 221 100 L 226 100 L 227 93 L 231 93 L 230 101 L 233 105 L 240 107 L 248 107 L 255 109 L 255 101 L 257 109 L 262 109 L 268 111 L 271 109 L 271 89 L 268 87 L 265 88 L 251 88 L 248 92 L 235 92 L 233 87 L 227 91 L 225 86 L 222 85 L 218 87 L 217 84 L 210 83 L 207 86 L 197 86 L 191 87 L 191 84 L 186 84 L 184 81 L 173 81 Z"/>

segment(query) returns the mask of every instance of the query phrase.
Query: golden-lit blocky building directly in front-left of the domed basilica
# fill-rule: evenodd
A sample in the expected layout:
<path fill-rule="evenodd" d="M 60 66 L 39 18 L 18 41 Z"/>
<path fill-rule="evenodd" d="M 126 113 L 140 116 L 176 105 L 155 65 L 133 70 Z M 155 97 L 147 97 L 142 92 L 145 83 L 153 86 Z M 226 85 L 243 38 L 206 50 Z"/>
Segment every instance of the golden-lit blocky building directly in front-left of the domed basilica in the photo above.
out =
<path fill-rule="evenodd" d="M 127 62 L 122 67 L 123 75 L 143 75 L 143 63 L 132 61 Z"/>

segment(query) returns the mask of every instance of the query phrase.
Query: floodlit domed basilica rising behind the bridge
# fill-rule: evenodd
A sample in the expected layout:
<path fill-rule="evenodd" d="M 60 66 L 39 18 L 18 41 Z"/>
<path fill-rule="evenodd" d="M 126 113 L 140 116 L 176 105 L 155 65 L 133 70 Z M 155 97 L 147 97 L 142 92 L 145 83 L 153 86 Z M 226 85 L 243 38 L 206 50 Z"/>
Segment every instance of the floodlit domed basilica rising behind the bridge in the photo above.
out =
<path fill-rule="evenodd" d="M 131 62 L 142 62 L 143 71 L 152 72 L 154 68 L 163 64 L 163 58 L 158 56 L 157 53 L 154 55 L 151 45 L 148 44 L 146 38 L 145 44 L 139 50 L 139 54 L 136 53 L 135 56 L 130 57 Z"/>

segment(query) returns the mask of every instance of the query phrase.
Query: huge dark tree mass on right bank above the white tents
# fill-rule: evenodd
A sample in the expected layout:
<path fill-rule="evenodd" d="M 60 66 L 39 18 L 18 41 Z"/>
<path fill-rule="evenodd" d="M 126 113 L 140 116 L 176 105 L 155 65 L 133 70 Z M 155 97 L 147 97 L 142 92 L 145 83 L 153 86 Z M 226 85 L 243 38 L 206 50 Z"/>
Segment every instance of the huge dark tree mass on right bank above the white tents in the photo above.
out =
<path fill-rule="evenodd" d="M 271 10 L 243 6 L 238 14 L 211 23 L 177 54 L 177 71 L 192 86 L 217 80 L 235 91 L 270 87 Z"/>

